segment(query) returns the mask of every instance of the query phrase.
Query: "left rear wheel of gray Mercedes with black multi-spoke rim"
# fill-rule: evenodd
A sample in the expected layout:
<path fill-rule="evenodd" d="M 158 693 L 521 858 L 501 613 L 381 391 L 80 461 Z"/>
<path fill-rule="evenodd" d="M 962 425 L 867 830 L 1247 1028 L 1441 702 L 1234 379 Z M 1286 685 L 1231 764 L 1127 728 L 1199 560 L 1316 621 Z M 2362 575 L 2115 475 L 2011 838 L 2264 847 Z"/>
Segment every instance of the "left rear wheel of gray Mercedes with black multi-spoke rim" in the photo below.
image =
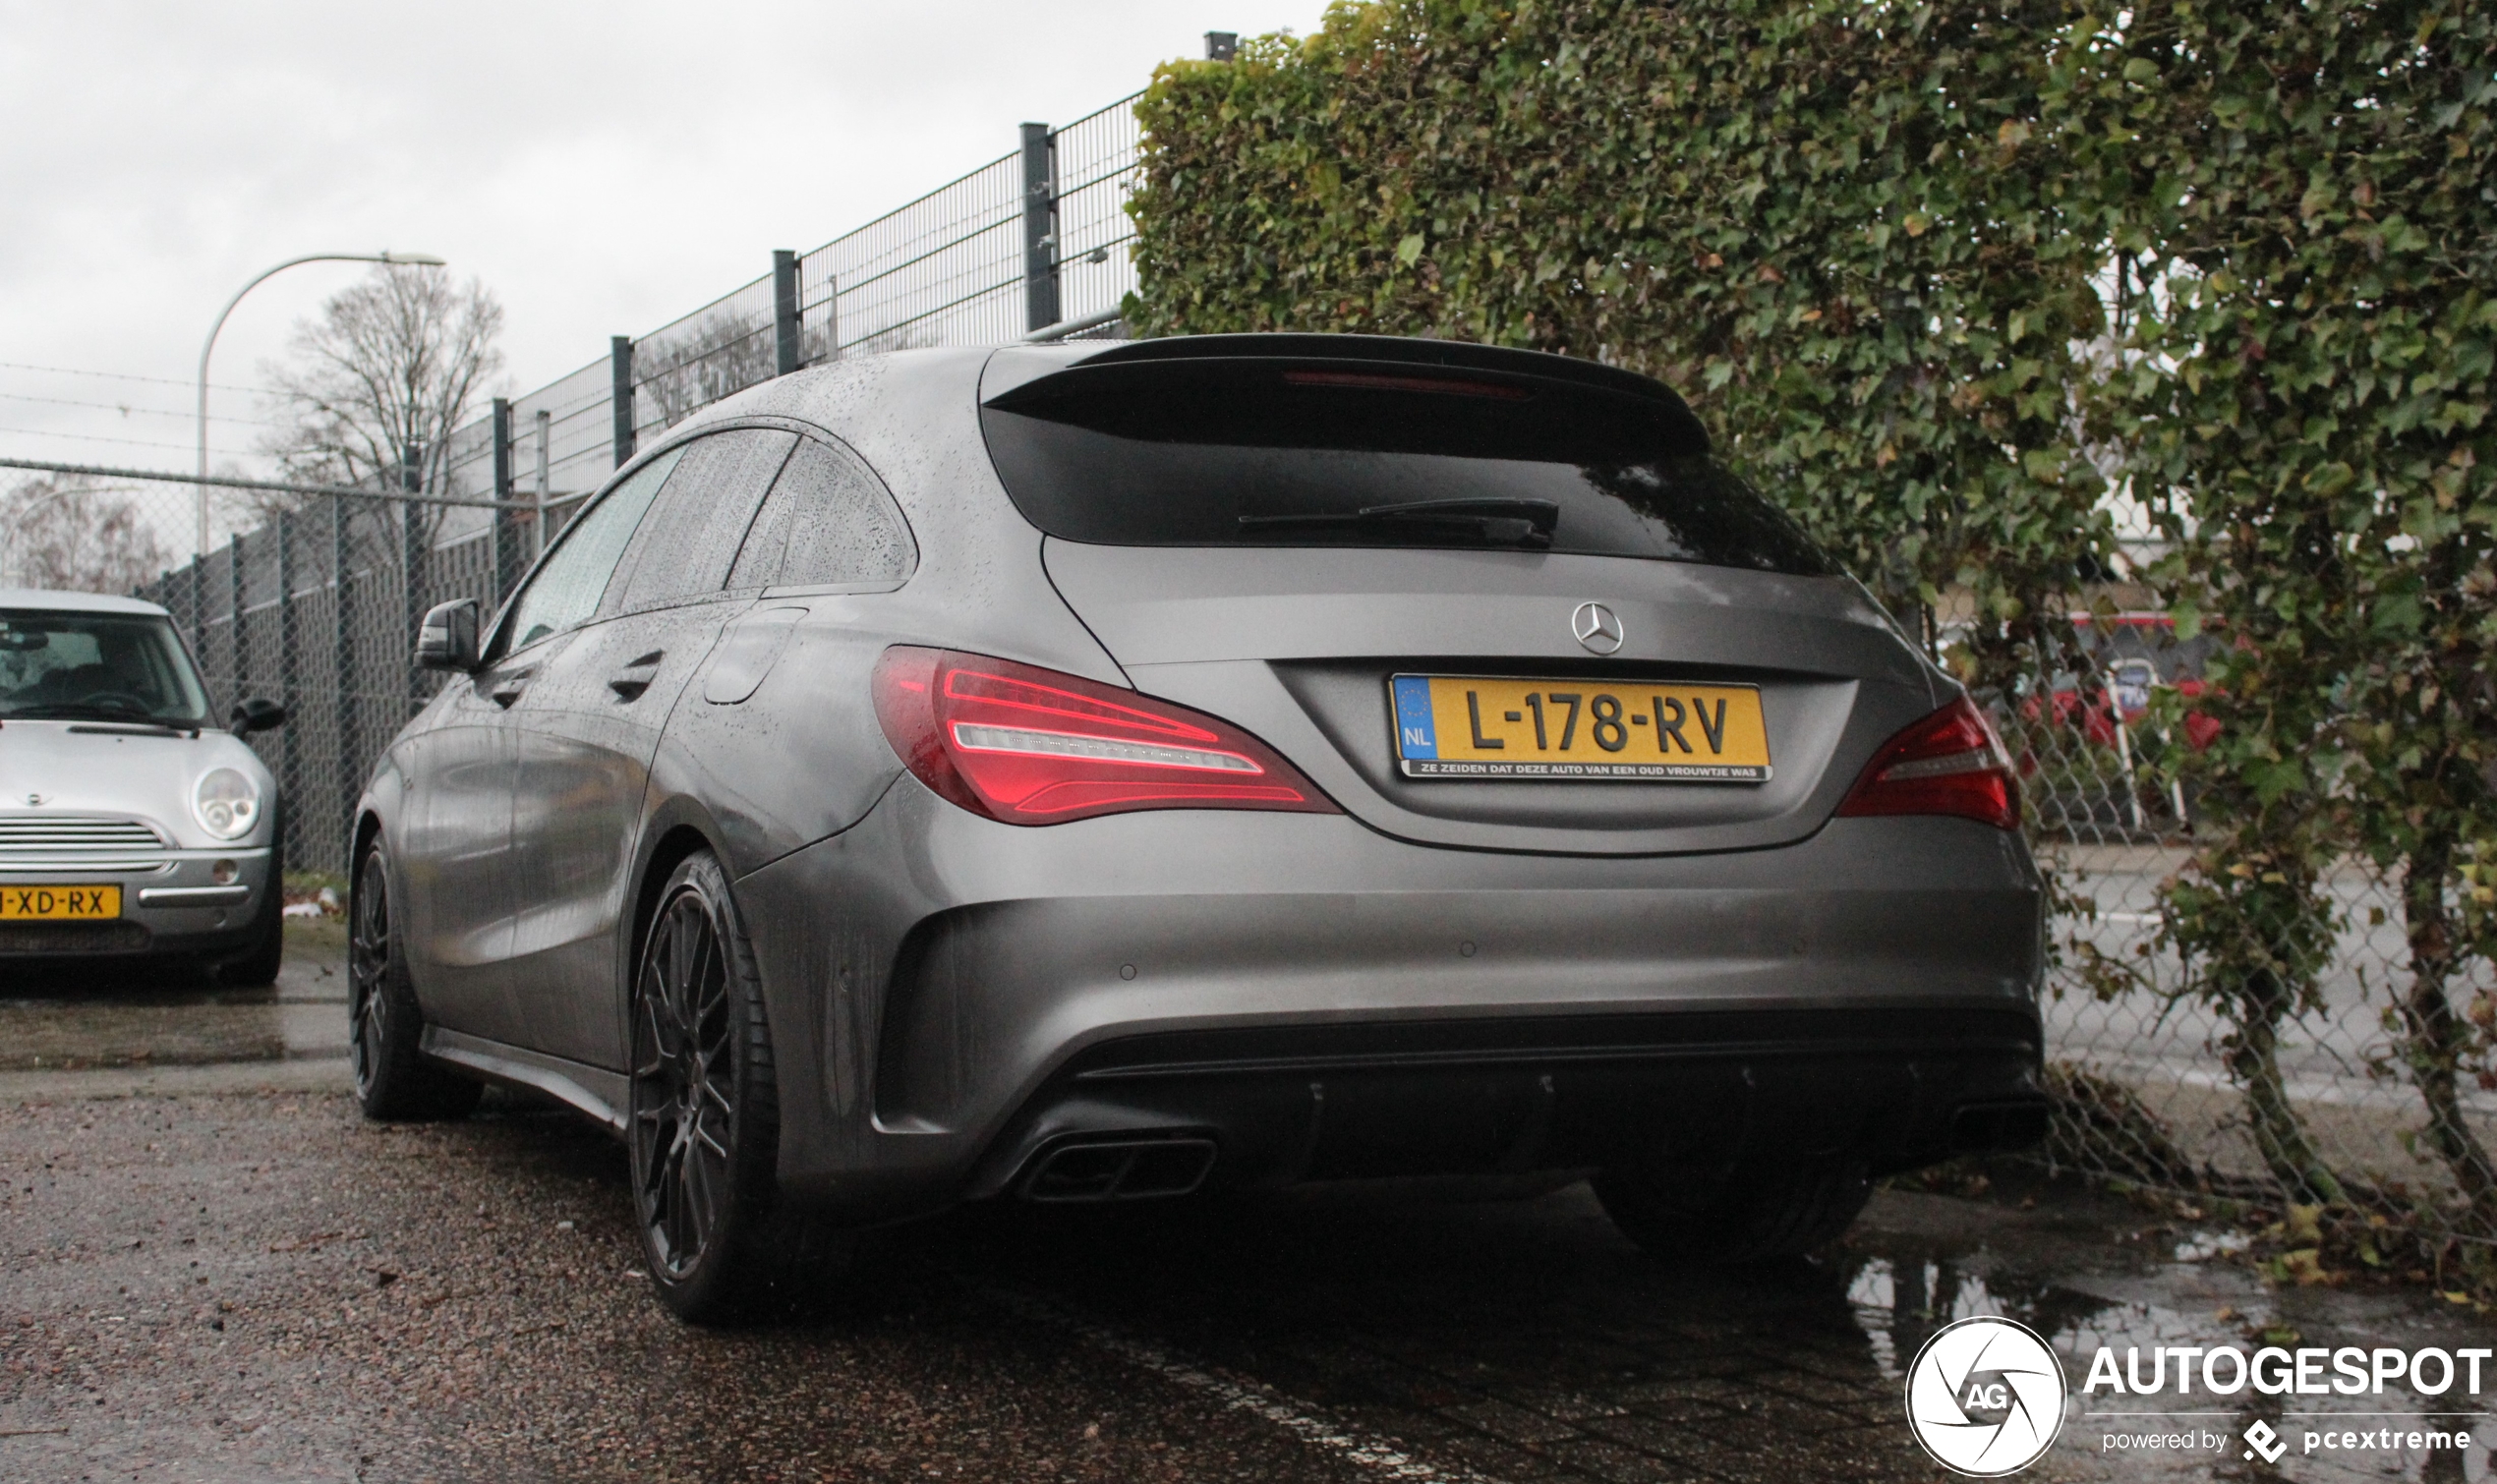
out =
<path fill-rule="evenodd" d="M 762 977 L 709 852 L 659 889 L 632 982 L 634 1229 L 689 1324 L 819 1307 L 846 1239 L 779 1199 L 779 1084 Z"/>

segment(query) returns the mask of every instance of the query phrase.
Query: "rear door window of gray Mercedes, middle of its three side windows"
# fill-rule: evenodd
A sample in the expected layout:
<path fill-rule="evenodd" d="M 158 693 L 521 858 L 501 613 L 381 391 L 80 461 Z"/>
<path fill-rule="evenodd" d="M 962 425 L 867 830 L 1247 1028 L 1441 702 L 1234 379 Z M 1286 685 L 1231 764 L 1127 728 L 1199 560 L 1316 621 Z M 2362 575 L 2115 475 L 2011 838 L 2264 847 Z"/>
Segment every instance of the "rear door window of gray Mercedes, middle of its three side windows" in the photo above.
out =
<path fill-rule="evenodd" d="M 737 545 L 794 442 L 777 427 L 732 427 L 684 445 L 599 612 L 642 612 L 727 587 Z"/>

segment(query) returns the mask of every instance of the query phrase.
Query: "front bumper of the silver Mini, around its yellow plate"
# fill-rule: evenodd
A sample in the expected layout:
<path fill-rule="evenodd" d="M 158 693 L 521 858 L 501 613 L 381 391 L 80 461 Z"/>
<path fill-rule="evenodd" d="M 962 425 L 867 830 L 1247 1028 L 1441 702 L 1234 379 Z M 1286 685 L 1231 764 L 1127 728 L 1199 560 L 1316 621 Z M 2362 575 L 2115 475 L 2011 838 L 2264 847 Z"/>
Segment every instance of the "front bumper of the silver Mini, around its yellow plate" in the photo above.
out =
<path fill-rule="evenodd" d="M 217 882 L 217 862 L 235 864 Z M 0 922 L 0 959 L 92 959 L 145 954 L 217 957 L 250 947 L 270 882 L 270 849 L 170 849 L 147 864 L 80 867 L 77 862 L 0 859 L 0 892 L 10 887 L 117 884 L 122 914 L 107 922 Z"/>

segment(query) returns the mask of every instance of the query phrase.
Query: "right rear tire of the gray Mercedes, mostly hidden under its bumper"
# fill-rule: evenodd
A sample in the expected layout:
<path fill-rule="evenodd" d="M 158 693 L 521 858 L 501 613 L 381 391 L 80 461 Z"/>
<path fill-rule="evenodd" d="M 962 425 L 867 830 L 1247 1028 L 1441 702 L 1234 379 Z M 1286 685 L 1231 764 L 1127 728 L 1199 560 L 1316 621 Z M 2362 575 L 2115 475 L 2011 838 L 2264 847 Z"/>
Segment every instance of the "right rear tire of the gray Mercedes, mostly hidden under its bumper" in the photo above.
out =
<path fill-rule="evenodd" d="M 1780 1262 L 1835 1242 L 1870 1197 L 1865 1167 L 1848 1159 L 1596 1177 L 1596 1199 L 1623 1237 L 1653 1257 L 1713 1267 Z"/>

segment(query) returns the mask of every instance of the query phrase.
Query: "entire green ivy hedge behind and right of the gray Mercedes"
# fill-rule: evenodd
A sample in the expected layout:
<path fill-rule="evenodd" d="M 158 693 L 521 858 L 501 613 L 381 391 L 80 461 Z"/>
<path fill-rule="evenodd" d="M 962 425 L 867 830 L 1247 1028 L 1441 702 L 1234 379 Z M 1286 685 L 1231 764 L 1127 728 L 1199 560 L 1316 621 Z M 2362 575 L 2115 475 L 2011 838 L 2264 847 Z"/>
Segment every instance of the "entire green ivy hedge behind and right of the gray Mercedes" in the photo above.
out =
<path fill-rule="evenodd" d="M 1980 687 L 2058 665 L 2140 502 L 2222 637 L 2165 932 L 2257 1144 L 2350 1199 L 2272 1034 L 2372 857 L 2440 1219 L 2497 1244 L 2457 1104 L 2497 1084 L 2492 72 L 2487 0 L 1338 2 L 1156 75 L 1129 322 L 1653 372 L 1928 640 L 1965 592 Z"/>

